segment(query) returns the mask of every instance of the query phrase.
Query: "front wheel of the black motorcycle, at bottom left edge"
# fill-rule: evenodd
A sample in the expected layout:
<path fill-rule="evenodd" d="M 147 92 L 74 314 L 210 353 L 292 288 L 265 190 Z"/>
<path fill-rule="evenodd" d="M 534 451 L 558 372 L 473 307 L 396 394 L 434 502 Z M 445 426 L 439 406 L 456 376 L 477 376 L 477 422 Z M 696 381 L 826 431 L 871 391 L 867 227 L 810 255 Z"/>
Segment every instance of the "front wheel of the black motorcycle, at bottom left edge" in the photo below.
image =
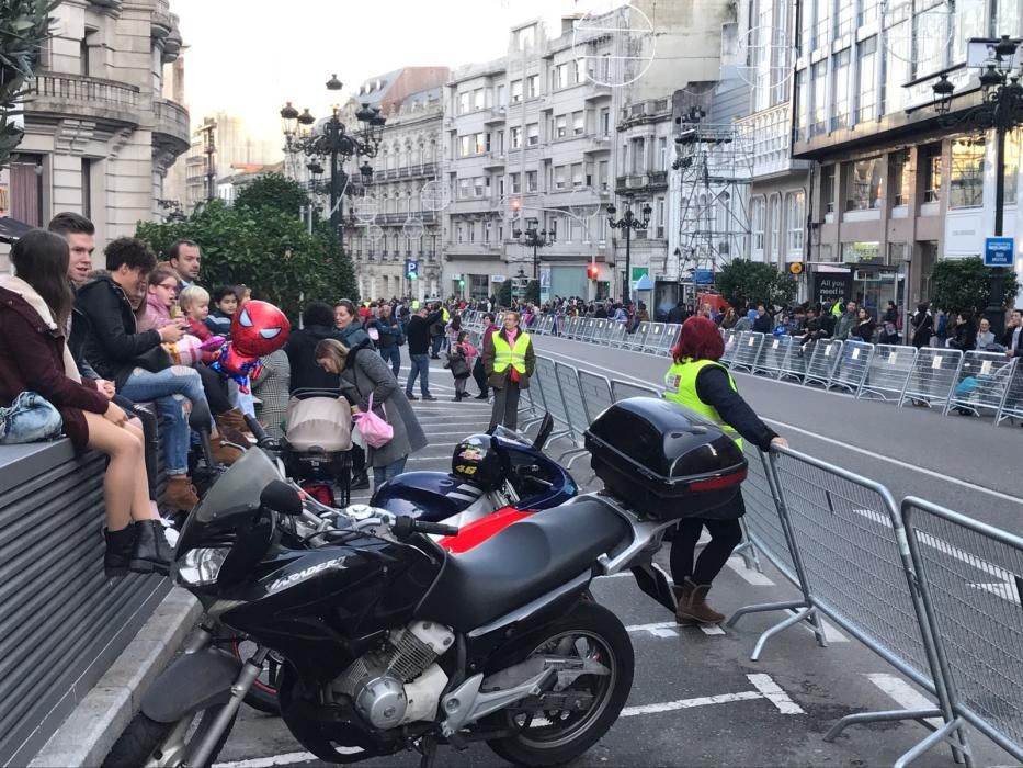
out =
<path fill-rule="evenodd" d="M 121 738 L 111 747 L 106 759 L 103 760 L 102 768 L 177 768 L 186 759 L 189 745 L 194 744 L 208 732 L 221 709 L 224 709 L 223 705 L 211 707 L 202 712 L 187 715 L 187 723 L 184 723 L 184 721 L 159 723 L 139 712 L 128 723 L 124 733 L 121 734 Z M 228 727 L 217 739 L 209 759 L 202 768 L 213 766 L 234 725 L 235 720 L 231 719 Z M 172 737 L 175 729 L 179 727 L 186 729 L 182 743 L 177 745 L 168 744 L 168 739 Z M 193 766 L 192 768 L 200 767 Z"/>

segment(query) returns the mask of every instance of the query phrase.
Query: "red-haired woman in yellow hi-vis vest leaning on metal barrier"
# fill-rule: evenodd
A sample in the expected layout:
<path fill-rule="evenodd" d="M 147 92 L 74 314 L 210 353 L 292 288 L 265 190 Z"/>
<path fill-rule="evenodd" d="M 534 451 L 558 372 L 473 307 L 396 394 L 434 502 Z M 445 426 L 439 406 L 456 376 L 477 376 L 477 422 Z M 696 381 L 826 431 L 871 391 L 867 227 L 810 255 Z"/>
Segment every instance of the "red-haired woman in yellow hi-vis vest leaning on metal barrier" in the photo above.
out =
<path fill-rule="evenodd" d="M 664 397 L 717 423 L 739 448 L 743 439 L 764 451 L 771 443 L 787 445 L 739 396 L 731 373 L 717 362 L 724 353 L 717 326 L 706 317 L 689 318 L 672 350 L 674 363 L 664 375 Z M 742 539 L 739 518 L 743 515 L 746 506 L 740 492 L 734 501 L 711 510 L 706 517 L 687 518 L 679 523 L 671 543 L 671 578 L 680 623 L 717 623 L 725 618 L 707 605 L 707 592 Z M 711 543 L 694 564 L 696 542 L 704 528 L 711 533 Z"/>

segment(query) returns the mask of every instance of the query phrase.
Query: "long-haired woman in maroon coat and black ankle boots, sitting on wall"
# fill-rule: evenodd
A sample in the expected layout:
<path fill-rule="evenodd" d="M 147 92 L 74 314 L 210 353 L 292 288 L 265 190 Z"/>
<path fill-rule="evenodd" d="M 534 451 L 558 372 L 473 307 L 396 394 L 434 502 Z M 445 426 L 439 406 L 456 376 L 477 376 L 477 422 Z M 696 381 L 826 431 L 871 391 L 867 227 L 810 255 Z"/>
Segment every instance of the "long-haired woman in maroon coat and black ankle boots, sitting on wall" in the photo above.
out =
<path fill-rule="evenodd" d="M 43 229 L 11 250 L 16 276 L 0 283 L 0 405 L 35 392 L 60 411 L 77 451 L 110 458 L 103 482 L 107 577 L 128 571 L 167 574 L 171 552 L 149 504 L 141 430 L 127 425 L 125 413 L 94 381 L 82 380 L 64 338 L 73 298 L 69 258 L 67 240 Z"/>

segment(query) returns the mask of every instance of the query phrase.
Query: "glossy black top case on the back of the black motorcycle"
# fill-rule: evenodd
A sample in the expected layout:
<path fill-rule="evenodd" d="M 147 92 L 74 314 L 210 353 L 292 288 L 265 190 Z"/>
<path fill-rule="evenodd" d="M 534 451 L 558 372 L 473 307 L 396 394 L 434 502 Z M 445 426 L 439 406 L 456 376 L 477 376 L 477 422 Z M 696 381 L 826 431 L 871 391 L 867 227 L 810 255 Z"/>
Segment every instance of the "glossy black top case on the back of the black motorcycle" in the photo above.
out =
<path fill-rule="evenodd" d="M 703 517 L 739 492 L 747 462 L 735 440 L 680 405 L 653 397 L 620 400 L 586 432 L 604 487 L 645 517 Z"/>

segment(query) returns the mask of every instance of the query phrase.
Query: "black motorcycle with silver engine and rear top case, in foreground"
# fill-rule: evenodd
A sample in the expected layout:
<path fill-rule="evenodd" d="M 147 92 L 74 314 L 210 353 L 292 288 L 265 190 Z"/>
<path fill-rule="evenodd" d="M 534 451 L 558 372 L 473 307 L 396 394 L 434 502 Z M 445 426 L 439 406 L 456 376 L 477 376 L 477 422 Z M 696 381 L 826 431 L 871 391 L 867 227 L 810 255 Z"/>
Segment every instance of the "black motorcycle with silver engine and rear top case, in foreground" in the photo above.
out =
<path fill-rule="evenodd" d="M 255 650 L 242 663 L 214 647 L 204 624 L 104 766 L 211 765 L 271 648 L 284 662 L 284 722 L 323 760 L 414 749 L 429 767 L 439 744 L 478 741 L 522 765 L 581 755 L 616 720 L 634 669 L 628 634 L 589 598 L 591 580 L 649 564 L 664 530 L 730 499 L 746 475 L 742 452 L 717 428 L 675 418 L 652 425 L 668 429 L 657 444 L 647 429 L 622 450 L 599 421 L 587 441 L 605 493 L 537 512 L 459 556 L 429 535 L 456 535 L 453 527 L 374 508 L 337 519 L 315 550 L 282 546 L 303 500 L 262 451 L 247 452 L 189 516 L 175 576 L 209 620 Z M 647 455 L 636 471 L 637 454 L 658 451 L 677 455 Z"/>

